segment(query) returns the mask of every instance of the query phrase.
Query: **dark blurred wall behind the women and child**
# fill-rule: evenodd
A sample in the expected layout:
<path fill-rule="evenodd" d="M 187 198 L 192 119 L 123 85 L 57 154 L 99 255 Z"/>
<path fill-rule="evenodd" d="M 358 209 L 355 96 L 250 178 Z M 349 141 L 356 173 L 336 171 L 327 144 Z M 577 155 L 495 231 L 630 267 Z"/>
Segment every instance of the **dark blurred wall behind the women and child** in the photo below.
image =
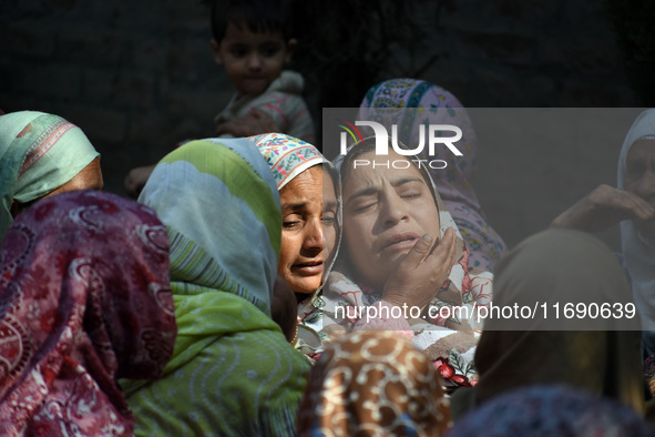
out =
<path fill-rule="evenodd" d="M 306 0 L 296 4 L 293 67 L 319 128 L 321 108 L 358 106 L 370 85 L 395 77 L 437 83 L 471 109 L 647 106 L 643 71 L 653 71 L 655 43 L 642 21 L 652 9 L 632 0 Z M 130 169 L 211 136 L 233 93 L 212 57 L 207 12 L 201 0 L 0 0 L 0 109 L 78 124 L 102 153 L 106 190 L 124 194 Z M 525 177 L 542 174 L 533 183 L 551 186 L 543 150 L 487 146 L 493 128 L 480 130 L 473 184 L 510 245 L 597 183 L 614 183 L 621 143 L 583 146 L 581 163 L 601 156 L 584 167 L 569 161 L 585 183 L 535 194 Z M 549 156 L 564 148 L 552 146 Z"/>

